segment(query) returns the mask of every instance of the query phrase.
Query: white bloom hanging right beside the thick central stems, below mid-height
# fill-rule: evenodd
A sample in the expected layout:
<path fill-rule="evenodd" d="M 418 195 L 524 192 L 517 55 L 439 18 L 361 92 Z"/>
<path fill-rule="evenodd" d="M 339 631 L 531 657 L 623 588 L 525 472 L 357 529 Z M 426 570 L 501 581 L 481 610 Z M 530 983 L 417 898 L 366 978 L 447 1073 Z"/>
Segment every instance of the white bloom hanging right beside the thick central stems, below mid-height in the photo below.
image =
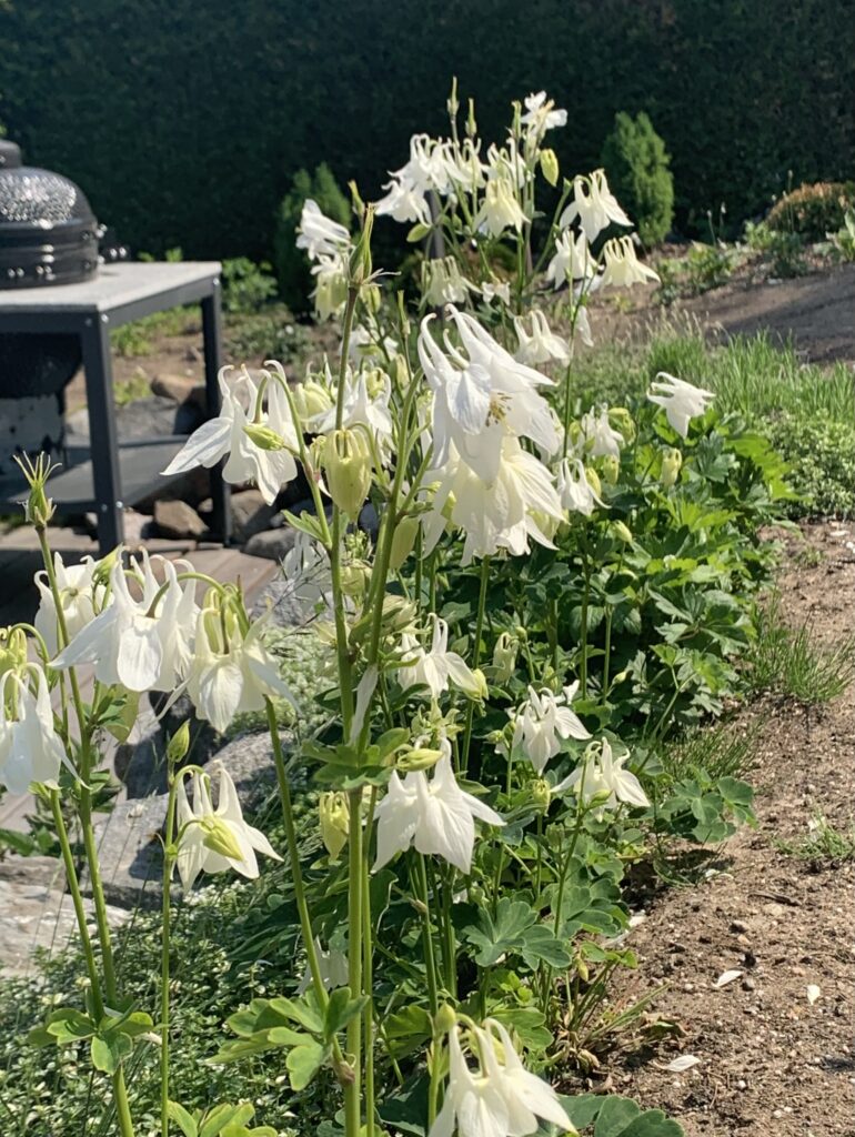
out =
<path fill-rule="evenodd" d="M 483 802 L 460 789 L 451 770 L 451 746 L 440 740 L 442 757 L 433 777 L 415 770 L 402 779 L 393 772 L 385 797 L 376 807 L 377 856 L 381 869 L 413 845 L 425 856 L 441 856 L 468 873 L 475 846 L 475 819 L 504 825 L 503 819 Z"/>

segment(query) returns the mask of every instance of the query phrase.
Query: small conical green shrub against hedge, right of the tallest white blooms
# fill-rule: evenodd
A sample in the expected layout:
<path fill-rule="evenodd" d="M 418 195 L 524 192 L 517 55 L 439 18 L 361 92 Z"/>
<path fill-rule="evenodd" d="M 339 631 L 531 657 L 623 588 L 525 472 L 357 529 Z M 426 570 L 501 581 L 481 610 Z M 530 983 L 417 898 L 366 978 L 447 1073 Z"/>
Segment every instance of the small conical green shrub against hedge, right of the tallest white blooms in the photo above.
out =
<path fill-rule="evenodd" d="M 674 177 L 665 143 L 644 110 L 636 118 L 623 110 L 615 115 L 603 165 L 644 243 L 659 244 L 674 218 Z"/>

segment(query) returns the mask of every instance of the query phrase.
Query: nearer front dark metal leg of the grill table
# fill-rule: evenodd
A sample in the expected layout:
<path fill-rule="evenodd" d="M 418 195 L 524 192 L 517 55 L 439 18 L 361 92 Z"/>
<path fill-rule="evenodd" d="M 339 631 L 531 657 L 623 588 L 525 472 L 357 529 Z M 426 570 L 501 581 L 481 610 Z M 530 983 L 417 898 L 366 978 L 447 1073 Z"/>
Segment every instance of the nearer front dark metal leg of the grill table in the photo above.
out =
<path fill-rule="evenodd" d="M 98 547 L 105 556 L 124 537 L 113 365 L 107 316 L 86 316 L 81 329 L 92 476 L 98 511 Z"/>

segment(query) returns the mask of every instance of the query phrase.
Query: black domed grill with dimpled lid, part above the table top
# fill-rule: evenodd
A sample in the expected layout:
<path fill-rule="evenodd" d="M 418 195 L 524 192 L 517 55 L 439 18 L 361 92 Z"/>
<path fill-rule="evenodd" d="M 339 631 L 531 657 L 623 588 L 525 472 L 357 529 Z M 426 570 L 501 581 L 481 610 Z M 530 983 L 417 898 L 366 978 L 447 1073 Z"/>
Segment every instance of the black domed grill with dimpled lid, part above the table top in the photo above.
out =
<path fill-rule="evenodd" d="M 0 139 L 0 289 L 69 284 L 98 271 L 98 222 L 61 174 L 23 166 Z"/>

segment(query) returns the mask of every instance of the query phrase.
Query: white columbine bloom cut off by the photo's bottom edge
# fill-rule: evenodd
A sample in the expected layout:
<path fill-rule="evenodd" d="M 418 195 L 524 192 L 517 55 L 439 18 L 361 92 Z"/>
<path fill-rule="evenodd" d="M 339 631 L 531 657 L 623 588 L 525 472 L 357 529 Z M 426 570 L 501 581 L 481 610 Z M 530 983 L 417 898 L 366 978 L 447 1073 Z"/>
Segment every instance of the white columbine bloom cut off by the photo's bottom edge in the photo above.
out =
<path fill-rule="evenodd" d="M 538 1118 L 575 1132 L 553 1087 L 524 1068 L 501 1023 L 488 1019 L 484 1029 L 474 1028 L 471 1037 L 478 1073 L 464 1056 L 459 1028 L 454 1026 L 449 1031 L 448 1087 L 428 1137 L 451 1137 L 454 1132 L 458 1137 L 526 1137 L 537 1131 Z"/>

